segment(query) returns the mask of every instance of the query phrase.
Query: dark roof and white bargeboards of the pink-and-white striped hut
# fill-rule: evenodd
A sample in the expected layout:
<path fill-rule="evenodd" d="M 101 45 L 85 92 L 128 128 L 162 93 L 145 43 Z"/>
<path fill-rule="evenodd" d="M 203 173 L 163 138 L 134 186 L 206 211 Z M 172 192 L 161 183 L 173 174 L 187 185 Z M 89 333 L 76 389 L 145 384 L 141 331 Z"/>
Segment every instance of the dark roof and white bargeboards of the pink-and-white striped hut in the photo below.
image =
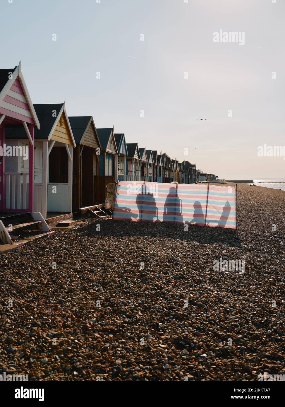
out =
<path fill-rule="evenodd" d="M 11 78 L 9 79 L 9 77 L 11 77 Z M 8 97 L 8 98 L 13 97 L 13 96 L 11 96 L 11 94 L 9 95 L 9 93 L 13 92 L 11 87 L 14 85 L 16 80 L 20 82 L 22 91 L 24 93 L 24 95 L 22 95 L 22 96 L 24 96 L 24 100 L 25 100 L 24 103 L 26 103 L 28 105 L 30 114 L 31 114 L 31 116 L 33 118 L 33 121 L 34 121 L 37 129 L 39 129 L 39 119 L 38 119 L 37 114 L 35 112 L 34 105 L 33 105 L 32 101 L 31 101 L 31 98 L 30 98 L 30 95 L 29 95 L 29 92 L 28 92 L 28 88 L 26 86 L 26 82 L 25 82 L 23 74 L 22 74 L 21 61 L 19 62 L 18 66 L 15 66 L 15 68 L 0 69 L 0 107 L 1 107 L 1 109 L 4 109 L 4 111 L 9 110 L 9 109 L 7 109 L 7 107 L 5 108 L 5 106 L 7 106 L 6 103 L 8 103 L 8 105 L 9 105 L 9 102 L 4 101 L 4 98 L 5 97 Z M 20 100 L 20 101 L 22 101 L 22 100 Z M 3 103 L 4 103 L 4 107 L 2 106 Z M 5 113 L 2 113 L 2 114 L 5 114 Z"/>

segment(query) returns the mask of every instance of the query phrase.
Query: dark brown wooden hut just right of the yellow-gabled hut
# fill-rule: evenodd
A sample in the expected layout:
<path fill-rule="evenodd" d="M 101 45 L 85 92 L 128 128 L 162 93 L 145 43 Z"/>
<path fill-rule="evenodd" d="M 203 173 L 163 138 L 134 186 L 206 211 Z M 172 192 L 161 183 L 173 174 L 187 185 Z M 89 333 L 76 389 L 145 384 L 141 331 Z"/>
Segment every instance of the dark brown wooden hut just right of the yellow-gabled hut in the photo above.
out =
<path fill-rule="evenodd" d="M 85 213 L 99 204 L 101 144 L 92 116 L 70 116 L 76 142 L 73 152 L 72 209 Z"/>

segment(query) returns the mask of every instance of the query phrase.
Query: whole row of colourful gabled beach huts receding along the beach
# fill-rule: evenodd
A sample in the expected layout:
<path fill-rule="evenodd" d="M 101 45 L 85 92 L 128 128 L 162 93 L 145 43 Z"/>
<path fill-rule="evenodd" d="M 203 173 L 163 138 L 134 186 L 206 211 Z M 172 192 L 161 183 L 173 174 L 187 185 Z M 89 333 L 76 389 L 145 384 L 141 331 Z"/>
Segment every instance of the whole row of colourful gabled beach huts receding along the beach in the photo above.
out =
<path fill-rule="evenodd" d="M 117 180 L 194 183 L 215 179 L 188 161 L 127 143 L 65 102 L 33 105 L 21 70 L 0 70 L 0 218 L 41 212 L 54 225 L 104 203 Z"/>

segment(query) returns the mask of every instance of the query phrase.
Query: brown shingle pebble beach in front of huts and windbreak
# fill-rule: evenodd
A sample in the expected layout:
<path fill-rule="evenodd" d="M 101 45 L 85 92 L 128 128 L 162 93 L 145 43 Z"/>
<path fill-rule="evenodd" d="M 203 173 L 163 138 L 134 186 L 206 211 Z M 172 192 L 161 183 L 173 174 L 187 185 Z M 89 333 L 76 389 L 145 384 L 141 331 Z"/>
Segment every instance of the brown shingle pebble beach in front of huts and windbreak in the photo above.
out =
<path fill-rule="evenodd" d="M 1 255 L 1 374 L 285 374 L 285 191 L 238 184 L 237 230 L 80 220 Z M 244 261 L 244 273 L 214 271 L 220 258 Z"/>

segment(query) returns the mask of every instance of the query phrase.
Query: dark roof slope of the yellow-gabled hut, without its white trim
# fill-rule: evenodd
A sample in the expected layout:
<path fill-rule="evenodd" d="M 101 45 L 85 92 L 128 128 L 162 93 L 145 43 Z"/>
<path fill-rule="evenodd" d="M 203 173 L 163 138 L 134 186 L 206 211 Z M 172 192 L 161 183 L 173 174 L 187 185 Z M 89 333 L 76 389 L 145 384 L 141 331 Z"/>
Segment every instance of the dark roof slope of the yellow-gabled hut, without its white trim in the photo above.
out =
<path fill-rule="evenodd" d="M 53 110 L 57 112 L 57 116 L 59 111 L 63 107 L 63 103 L 56 103 L 56 104 L 41 104 L 41 105 L 34 105 L 35 112 L 37 114 L 37 118 L 39 119 L 40 129 L 38 130 L 35 127 L 35 140 L 47 140 L 54 125 L 55 120 L 57 117 L 52 116 Z M 16 127 L 16 126 L 5 126 L 5 138 L 7 139 L 25 139 L 27 138 L 26 131 L 23 126 Z"/>

